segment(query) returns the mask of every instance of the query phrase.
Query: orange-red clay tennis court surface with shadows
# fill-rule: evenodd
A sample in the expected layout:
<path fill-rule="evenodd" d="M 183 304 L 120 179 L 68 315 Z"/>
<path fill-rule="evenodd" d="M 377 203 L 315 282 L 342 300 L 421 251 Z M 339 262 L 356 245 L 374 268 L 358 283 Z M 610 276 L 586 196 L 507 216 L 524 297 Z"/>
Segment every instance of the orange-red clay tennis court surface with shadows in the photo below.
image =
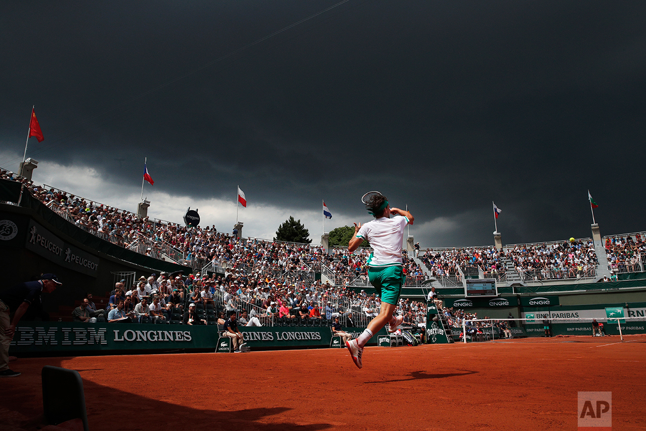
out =
<path fill-rule="evenodd" d="M 41 368 L 78 370 L 90 430 L 575 430 L 577 393 L 612 392 L 646 430 L 643 343 L 496 343 L 19 359 L 0 430 L 42 412 Z"/>

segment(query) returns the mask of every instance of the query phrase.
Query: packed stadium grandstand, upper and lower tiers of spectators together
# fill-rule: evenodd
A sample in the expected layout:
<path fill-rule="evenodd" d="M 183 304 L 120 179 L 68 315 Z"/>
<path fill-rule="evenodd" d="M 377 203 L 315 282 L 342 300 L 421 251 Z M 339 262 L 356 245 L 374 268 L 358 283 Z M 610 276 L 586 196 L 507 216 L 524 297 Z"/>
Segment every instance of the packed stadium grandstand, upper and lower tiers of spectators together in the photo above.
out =
<path fill-rule="evenodd" d="M 107 303 L 114 294 L 110 290 L 121 282 L 134 304 L 140 300 L 132 294 L 138 287 L 158 296 L 169 324 L 182 324 L 182 311 L 191 303 L 207 325 L 221 325 L 230 311 L 246 311 L 249 320 L 262 326 L 324 327 L 339 316 L 345 327 L 366 327 L 379 313 L 379 297 L 368 282 L 370 249 L 351 253 L 347 247 L 242 238 L 218 232 L 214 226 L 190 227 L 141 217 L 52 186 L 33 184 L 8 171 L 0 175 L 5 182 L 19 184 L 22 193 L 19 199 L 3 204 L 23 206 L 28 194 L 66 226 L 129 251 L 118 258 L 136 263 L 140 271 L 110 271 L 109 283 L 104 277 L 96 286 L 95 296 L 101 298 L 101 305 L 110 306 Z M 464 298 L 464 285 L 470 279 L 494 279 L 500 296 L 581 293 L 598 291 L 595 283 L 599 281 L 638 280 L 644 274 L 644 239 L 646 234 L 638 232 L 601 241 L 570 238 L 500 247 L 408 247 L 402 249 L 406 282 L 398 311 L 405 316 L 405 326 L 423 333 L 426 295 L 431 287 L 451 300 Z M 147 263 L 126 257 L 136 255 Z M 146 274 L 146 280 L 135 277 L 140 273 Z M 172 300 L 174 293 L 179 294 L 180 304 Z M 77 296 L 68 304 L 57 304 L 58 309 L 50 315 L 71 320 L 72 303 L 78 305 L 79 300 Z M 519 304 L 518 299 L 517 304 L 508 305 L 521 314 Z M 476 307 L 471 311 L 457 305 L 439 309 L 444 324 L 456 332 L 466 322 L 481 325 L 479 318 L 489 317 L 483 312 L 488 310 Z"/>

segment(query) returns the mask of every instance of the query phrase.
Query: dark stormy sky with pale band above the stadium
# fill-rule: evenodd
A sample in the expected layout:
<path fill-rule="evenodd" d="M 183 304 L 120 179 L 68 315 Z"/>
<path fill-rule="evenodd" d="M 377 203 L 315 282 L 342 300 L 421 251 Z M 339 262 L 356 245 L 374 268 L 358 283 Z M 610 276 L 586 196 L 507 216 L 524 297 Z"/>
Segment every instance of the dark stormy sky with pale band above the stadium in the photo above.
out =
<path fill-rule="evenodd" d="M 135 210 L 148 157 L 151 216 L 230 232 L 240 184 L 245 235 L 315 243 L 369 190 L 422 247 L 492 244 L 492 201 L 503 243 L 590 236 L 588 189 L 646 228 L 643 1 L 7 3 L 0 166 L 36 105 L 35 182 Z"/>

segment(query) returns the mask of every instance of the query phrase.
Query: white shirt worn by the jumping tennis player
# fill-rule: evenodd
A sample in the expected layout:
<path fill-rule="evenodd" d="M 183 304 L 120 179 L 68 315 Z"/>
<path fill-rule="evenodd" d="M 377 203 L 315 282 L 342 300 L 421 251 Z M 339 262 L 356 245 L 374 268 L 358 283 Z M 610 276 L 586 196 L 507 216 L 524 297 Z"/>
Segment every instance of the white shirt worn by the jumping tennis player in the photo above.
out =
<path fill-rule="evenodd" d="M 402 243 L 408 217 L 395 216 L 391 219 L 380 217 L 364 223 L 357 232 L 357 238 L 368 239 L 373 252 L 368 258 L 369 267 L 402 266 Z"/>

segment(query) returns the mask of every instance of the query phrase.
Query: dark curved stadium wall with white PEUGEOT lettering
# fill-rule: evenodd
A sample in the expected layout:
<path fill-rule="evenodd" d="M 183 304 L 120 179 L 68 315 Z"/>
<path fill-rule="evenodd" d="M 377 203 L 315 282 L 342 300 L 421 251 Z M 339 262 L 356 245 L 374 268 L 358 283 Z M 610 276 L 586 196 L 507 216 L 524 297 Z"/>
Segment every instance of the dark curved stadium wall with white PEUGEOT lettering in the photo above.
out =
<path fill-rule="evenodd" d="M 0 259 L 10 270 L 5 271 L 3 285 L 37 280 L 40 274 L 53 272 L 63 286 L 47 295 L 46 311 L 74 304 L 88 292 L 104 296 L 114 289 L 112 272 L 192 271 L 109 243 L 61 219 L 43 204 L 31 204 L 34 208 L 0 204 Z"/>

